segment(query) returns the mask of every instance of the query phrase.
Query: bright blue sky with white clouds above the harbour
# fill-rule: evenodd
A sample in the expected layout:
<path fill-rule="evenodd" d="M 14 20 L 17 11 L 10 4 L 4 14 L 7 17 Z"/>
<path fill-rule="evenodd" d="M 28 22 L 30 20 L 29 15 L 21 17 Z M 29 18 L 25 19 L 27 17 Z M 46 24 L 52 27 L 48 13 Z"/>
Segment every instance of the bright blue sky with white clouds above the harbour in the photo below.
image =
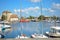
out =
<path fill-rule="evenodd" d="M 41 14 L 60 17 L 60 0 L 0 0 L 0 16 L 7 10 L 19 17 L 20 14 L 24 17 L 39 17 Z"/>

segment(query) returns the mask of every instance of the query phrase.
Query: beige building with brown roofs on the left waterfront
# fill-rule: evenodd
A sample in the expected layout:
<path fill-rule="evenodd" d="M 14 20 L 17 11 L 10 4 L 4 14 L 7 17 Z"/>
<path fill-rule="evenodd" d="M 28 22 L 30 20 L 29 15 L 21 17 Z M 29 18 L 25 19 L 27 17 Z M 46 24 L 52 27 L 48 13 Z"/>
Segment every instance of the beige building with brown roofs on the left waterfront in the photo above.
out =
<path fill-rule="evenodd" d="M 11 13 L 10 11 L 3 11 L 2 15 L 5 16 L 6 21 L 16 21 L 16 20 L 18 20 L 18 16 L 16 14 Z"/>

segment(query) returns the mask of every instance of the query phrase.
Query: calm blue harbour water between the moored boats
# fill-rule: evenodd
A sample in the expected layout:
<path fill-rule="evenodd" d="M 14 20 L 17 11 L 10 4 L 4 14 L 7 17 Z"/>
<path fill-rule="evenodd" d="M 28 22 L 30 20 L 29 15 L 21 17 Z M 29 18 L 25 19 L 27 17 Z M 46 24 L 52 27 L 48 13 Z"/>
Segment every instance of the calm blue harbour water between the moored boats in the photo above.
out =
<path fill-rule="evenodd" d="M 50 30 L 50 27 L 53 26 L 54 23 L 50 22 L 13 22 L 11 23 L 12 30 L 10 32 L 4 33 L 5 38 L 16 38 L 18 35 L 25 34 L 30 37 L 34 33 L 45 34 L 46 31 Z M 60 23 L 56 23 L 56 25 L 60 26 Z M 22 29 L 21 29 L 22 28 Z"/>

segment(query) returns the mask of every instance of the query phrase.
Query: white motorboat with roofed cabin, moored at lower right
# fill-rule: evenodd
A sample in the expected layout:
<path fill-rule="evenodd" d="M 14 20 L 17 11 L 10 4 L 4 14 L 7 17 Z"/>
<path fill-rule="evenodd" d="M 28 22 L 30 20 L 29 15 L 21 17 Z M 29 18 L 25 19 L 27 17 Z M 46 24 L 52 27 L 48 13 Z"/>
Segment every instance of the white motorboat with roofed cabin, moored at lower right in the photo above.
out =
<path fill-rule="evenodd" d="M 46 32 L 46 35 L 49 37 L 60 38 L 60 27 L 52 26 L 49 32 Z"/>

